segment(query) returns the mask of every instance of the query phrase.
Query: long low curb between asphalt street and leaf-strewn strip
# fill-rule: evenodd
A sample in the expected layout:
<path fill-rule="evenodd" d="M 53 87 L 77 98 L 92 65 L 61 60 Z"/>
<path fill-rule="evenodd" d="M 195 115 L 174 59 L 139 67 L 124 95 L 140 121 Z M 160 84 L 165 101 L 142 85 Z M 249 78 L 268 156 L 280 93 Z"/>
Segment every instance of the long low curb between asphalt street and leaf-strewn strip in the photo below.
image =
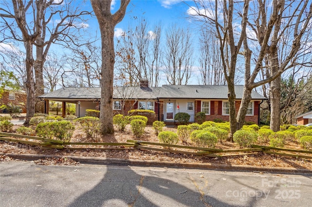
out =
<path fill-rule="evenodd" d="M 284 173 L 284 174 L 312 174 L 312 170 L 280 167 L 258 167 L 249 165 L 231 165 L 231 164 L 214 164 L 214 163 L 175 163 L 160 162 L 154 160 L 138 159 L 117 159 L 105 157 L 84 157 L 84 156 L 59 156 L 59 155 L 35 155 L 35 154 L 11 154 L 0 153 L 12 158 L 21 160 L 38 160 L 52 157 L 66 157 L 80 162 L 81 164 L 98 164 L 98 165 L 132 165 L 142 167 L 168 167 L 168 168 L 188 168 L 203 169 L 215 171 L 240 171 L 240 172 L 263 172 L 263 173 Z"/>

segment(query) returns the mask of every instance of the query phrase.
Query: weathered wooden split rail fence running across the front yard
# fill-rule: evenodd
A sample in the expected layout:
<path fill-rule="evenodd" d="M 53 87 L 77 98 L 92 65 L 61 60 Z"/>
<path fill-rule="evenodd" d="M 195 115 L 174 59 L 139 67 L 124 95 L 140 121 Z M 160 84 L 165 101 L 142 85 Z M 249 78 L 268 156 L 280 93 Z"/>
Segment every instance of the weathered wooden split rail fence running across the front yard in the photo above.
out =
<path fill-rule="evenodd" d="M 156 143 L 156 142 L 131 140 L 131 139 L 127 140 L 127 143 L 64 142 L 62 140 L 57 140 L 57 139 L 41 138 L 41 137 L 35 137 L 35 136 L 26 136 L 26 135 L 19 135 L 19 134 L 13 134 L 13 133 L 4 133 L 4 132 L 0 132 L 0 140 L 19 142 L 23 144 L 36 145 L 36 146 L 47 147 L 47 148 L 67 149 L 67 150 L 143 149 L 143 150 L 150 150 L 150 151 L 160 151 L 160 152 L 169 152 L 169 153 L 176 153 L 176 154 L 199 155 L 199 156 L 209 156 L 209 157 L 250 155 L 250 154 L 254 154 L 255 152 L 263 152 L 266 154 L 312 159 L 312 151 L 287 149 L 287 148 L 279 148 L 279 147 L 269 147 L 269 146 L 262 146 L 262 145 L 252 145 L 252 148 L 245 148 L 245 149 L 223 150 L 223 149 L 215 149 L 215 148 L 162 144 L 162 143 Z M 115 147 L 115 146 L 119 146 L 119 147 Z M 185 149 L 187 149 L 188 151 Z M 297 154 L 294 154 L 294 153 L 297 153 Z"/>

